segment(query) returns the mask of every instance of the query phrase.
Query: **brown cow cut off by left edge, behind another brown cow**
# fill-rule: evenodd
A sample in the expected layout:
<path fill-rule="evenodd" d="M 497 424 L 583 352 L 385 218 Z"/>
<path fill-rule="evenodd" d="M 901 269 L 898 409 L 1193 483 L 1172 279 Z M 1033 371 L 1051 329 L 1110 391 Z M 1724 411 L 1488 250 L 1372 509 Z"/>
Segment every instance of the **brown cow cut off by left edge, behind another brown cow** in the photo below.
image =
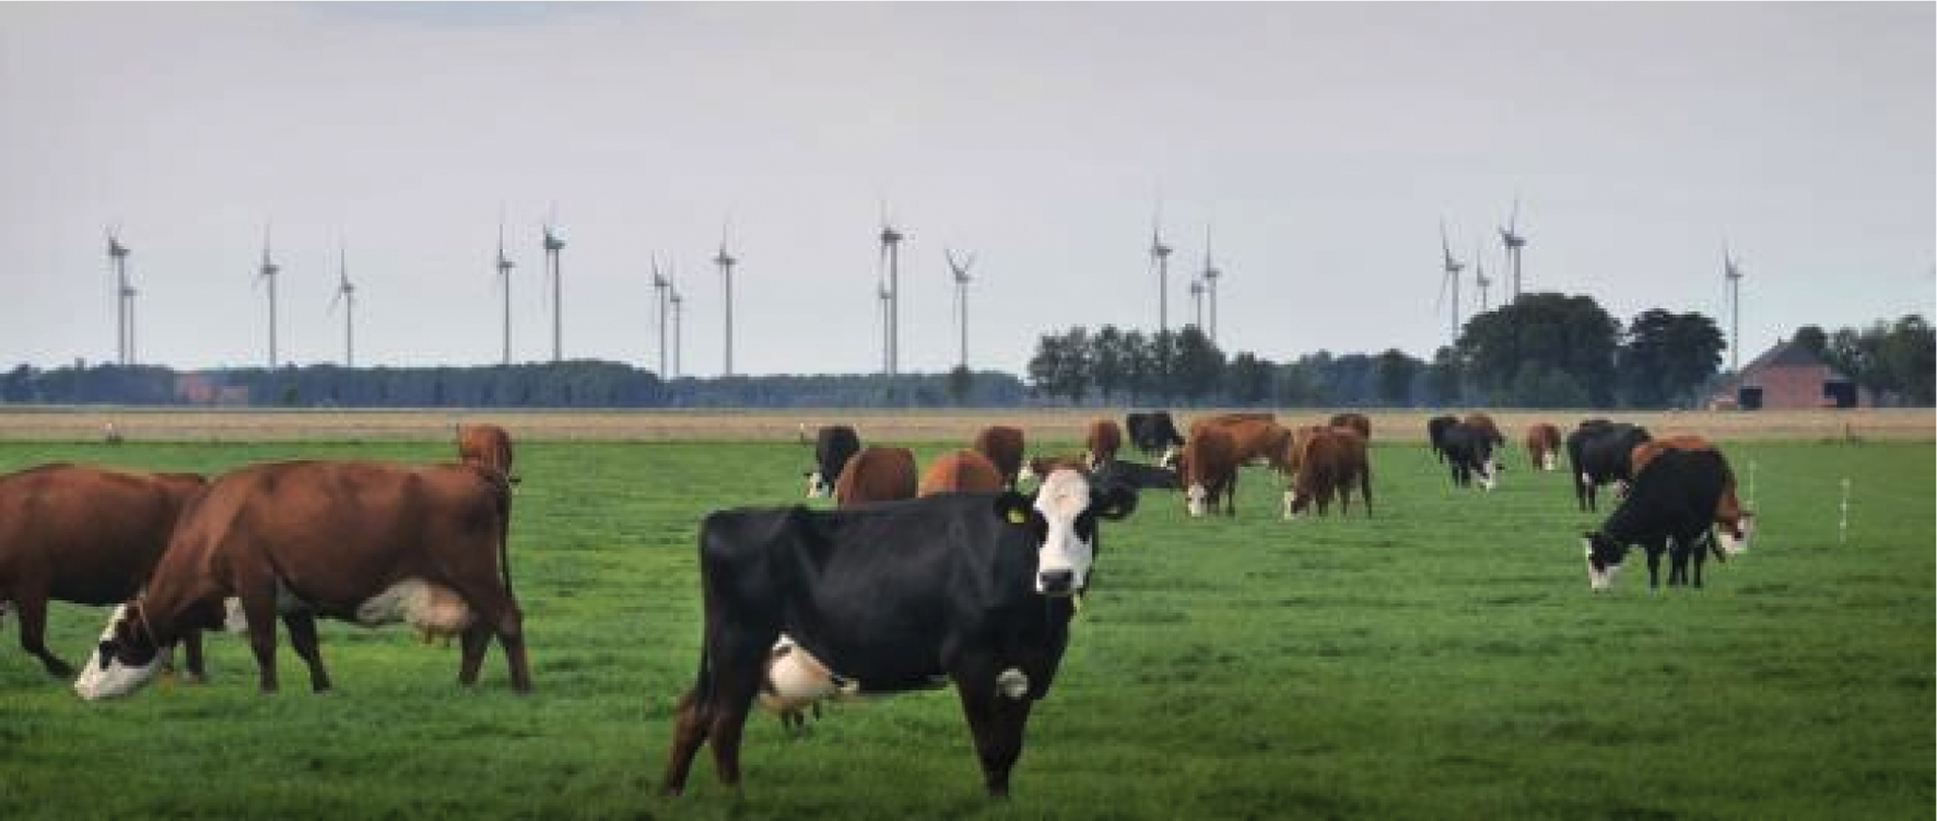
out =
<path fill-rule="evenodd" d="M 58 678 L 74 666 L 46 649 L 46 602 L 134 598 L 169 546 L 192 472 L 124 472 L 43 465 L 0 476 L 0 604 L 19 610 L 19 649 Z M 201 637 L 184 635 L 188 672 L 201 676 Z"/>

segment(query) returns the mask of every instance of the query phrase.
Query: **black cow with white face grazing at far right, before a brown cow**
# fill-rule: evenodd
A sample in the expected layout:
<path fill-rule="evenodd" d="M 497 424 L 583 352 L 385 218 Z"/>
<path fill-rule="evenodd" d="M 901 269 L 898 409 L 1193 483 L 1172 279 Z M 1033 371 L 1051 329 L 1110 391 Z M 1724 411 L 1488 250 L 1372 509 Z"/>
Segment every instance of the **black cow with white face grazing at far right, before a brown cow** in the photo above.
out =
<path fill-rule="evenodd" d="M 1714 505 L 1728 484 L 1728 463 L 1706 451 L 1668 449 L 1654 457 L 1635 476 L 1627 500 L 1600 525 L 1583 532 L 1586 542 L 1588 587 L 1606 591 L 1627 558 L 1629 544 L 1648 552 L 1648 589 L 1656 589 L 1662 550 L 1672 554 L 1668 585 L 1687 585 L 1687 560 L 1695 556 L 1695 587 L 1701 587 L 1701 565 L 1708 556 L 1708 527 L 1714 525 Z M 1720 554 L 1716 554 L 1720 558 Z"/>

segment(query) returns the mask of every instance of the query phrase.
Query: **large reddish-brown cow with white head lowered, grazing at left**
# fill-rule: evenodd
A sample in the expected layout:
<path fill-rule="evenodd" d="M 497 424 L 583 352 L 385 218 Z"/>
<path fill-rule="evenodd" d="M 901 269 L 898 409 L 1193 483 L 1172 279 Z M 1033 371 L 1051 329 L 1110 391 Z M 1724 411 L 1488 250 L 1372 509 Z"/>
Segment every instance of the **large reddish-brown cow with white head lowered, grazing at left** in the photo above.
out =
<path fill-rule="evenodd" d="M 263 693 L 277 689 L 277 616 L 314 691 L 329 689 L 316 647 L 316 618 L 327 616 L 459 633 L 465 685 L 477 684 L 496 635 L 511 687 L 529 693 L 506 556 L 509 515 L 504 474 L 477 465 L 289 461 L 231 471 L 182 511 L 141 598 L 112 622 L 99 674 L 76 691 L 132 693 L 153 678 L 163 649 L 190 629 L 221 627 L 223 598 L 238 596 Z"/>

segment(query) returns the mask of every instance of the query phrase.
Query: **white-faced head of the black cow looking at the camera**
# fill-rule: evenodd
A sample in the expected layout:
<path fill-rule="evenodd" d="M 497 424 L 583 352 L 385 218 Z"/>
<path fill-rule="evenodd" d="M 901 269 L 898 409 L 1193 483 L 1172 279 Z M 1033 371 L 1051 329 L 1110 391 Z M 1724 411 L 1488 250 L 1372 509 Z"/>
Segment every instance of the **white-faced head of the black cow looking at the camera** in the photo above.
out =
<path fill-rule="evenodd" d="M 996 498 L 996 513 L 1029 527 L 1036 542 L 1036 593 L 1044 596 L 1083 593 L 1096 560 L 1096 519 L 1123 519 L 1135 509 L 1135 490 L 1120 484 L 1092 490 L 1071 469 L 1042 476 L 1032 498 L 1015 492 Z"/>

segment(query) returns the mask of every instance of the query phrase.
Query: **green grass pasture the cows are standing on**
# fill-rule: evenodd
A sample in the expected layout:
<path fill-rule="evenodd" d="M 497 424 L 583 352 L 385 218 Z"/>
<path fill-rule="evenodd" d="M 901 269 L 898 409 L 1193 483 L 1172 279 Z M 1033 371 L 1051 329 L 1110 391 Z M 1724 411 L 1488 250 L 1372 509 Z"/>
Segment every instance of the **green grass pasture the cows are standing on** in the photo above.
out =
<path fill-rule="evenodd" d="M 1755 463 L 1759 532 L 1699 593 L 1648 594 L 1635 554 L 1590 594 L 1579 531 L 1598 519 L 1519 453 L 1488 496 L 1453 492 L 1420 447 L 1375 447 L 1369 521 L 1284 523 L 1257 469 L 1236 519 L 1145 494 L 1106 527 L 1015 798 L 992 804 L 949 691 L 835 705 L 806 738 L 757 713 L 742 798 L 707 753 L 686 798 L 657 798 L 699 639 L 695 523 L 796 502 L 806 447 L 525 443 L 511 562 L 533 697 L 496 647 L 463 691 L 455 647 L 331 622 L 327 695 L 287 637 L 271 697 L 246 643 L 213 637 L 209 684 L 83 703 L 8 618 L 0 819 L 1931 817 L 1933 445 L 1726 449 L 1745 484 Z M 0 443 L 0 469 L 447 453 Z M 79 662 L 105 616 L 56 604 L 50 645 Z"/>

